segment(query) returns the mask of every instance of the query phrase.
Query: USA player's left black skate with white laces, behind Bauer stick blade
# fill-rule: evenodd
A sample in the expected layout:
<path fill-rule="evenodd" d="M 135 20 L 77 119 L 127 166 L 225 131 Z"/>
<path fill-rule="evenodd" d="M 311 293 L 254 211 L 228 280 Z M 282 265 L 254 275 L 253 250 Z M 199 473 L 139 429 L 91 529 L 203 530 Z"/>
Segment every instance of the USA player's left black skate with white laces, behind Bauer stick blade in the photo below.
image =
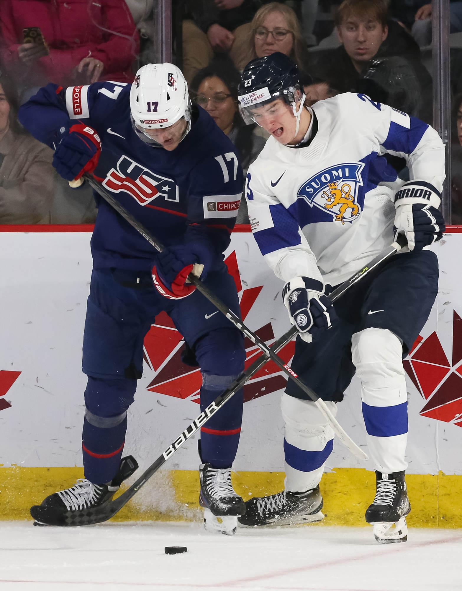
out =
<path fill-rule="evenodd" d="M 86 512 L 95 508 L 104 511 L 104 505 L 109 504 L 123 480 L 129 478 L 137 467 L 133 456 L 123 457 L 119 472 L 109 484 L 94 484 L 86 478 L 79 478 L 72 488 L 54 492 L 41 505 L 31 507 L 34 525 L 87 525 L 89 518 Z"/>

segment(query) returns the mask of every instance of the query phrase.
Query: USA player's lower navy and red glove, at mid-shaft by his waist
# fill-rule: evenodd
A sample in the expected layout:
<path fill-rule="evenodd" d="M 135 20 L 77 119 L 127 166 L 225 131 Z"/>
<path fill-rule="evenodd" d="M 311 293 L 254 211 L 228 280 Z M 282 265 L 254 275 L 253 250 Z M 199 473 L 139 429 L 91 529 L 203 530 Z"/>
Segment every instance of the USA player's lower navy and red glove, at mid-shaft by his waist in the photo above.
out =
<path fill-rule="evenodd" d="M 189 273 L 204 280 L 211 263 L 212 253 L 204 242 L 168 246 L 156 256 L 152 280 L 162 296 L 169 300 L 181 300 L 196 288 L 188 282 Z"/>

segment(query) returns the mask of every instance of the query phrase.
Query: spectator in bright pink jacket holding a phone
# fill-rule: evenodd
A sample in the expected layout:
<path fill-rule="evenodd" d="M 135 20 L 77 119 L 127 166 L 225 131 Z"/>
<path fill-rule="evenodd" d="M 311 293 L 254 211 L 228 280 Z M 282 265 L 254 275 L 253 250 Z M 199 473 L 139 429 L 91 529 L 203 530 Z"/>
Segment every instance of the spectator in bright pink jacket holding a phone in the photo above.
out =
<path fill-rule="evenodd" d="M 39 27 L 41 43 L 24 43 Z M 22 87 L 132 82 L 138 34 L 123 0 L 0 2 L 1 54 Z"/>

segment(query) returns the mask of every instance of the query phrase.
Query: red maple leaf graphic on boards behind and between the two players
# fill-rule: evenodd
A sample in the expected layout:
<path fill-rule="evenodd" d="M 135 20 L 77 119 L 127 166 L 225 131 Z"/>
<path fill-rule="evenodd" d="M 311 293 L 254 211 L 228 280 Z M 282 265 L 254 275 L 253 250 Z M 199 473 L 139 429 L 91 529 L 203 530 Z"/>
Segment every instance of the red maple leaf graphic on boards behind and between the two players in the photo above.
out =
<path fill-rule="evenodd" d="M 251 287 L 250 289 L 243 288 L 235 252 L 228 256 L 225 263 L 228 266 L 228 272 L 234 278 L 239 295 L 242 319 L 245 320 L 257 300 L 258 294 L 263 289 L 263 285 Z M 270 322 L 255 330 L 255 334 L 261 340 L 264 340 L 267 345 L 271 345 L 276 340 Z M 245 369 L 247 369 L 261 355 L 261 352 L 247 337 L 244 343 Z M 183 345 L 183 337 L 175 329 L 171 318 L 165 312 L 160 313 L 156 317 L 156 324 L 150 327 L 145 337 L 144 359 L 149 368 L 155 373 L 155 377 L 147 389 L 156 392 L 156 394 L 187 398 L 199 402 L 199 389 L 202 385 L 201 371 L 199 368 L 191 368 L 191 366 L 182 363 L 181 350 Z M 294 348 L 295 342 L 291 341 L 280 350 L 278 355 L 284 360 L 284 363 L 289 363 L 293 357 Z M 280 368 L 274 362 L 268 361 L 244 385 L 244 402 L 285 388 L 286 383 L 286 378 Z"/>

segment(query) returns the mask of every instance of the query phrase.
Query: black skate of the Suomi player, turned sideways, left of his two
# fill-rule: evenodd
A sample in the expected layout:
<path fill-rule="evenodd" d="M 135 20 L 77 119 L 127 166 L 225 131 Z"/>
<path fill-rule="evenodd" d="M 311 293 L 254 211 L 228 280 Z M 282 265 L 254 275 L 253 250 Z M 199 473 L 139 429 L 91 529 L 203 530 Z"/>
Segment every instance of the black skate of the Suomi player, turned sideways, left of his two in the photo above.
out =
<path fill-rule="evenodd" d="M 304 493 L 282 491 L 276 495 L 254 497 L 245 503 L 241 525 L 296 525 L 321 521 L 323 500 L 316 488 Z"/>

